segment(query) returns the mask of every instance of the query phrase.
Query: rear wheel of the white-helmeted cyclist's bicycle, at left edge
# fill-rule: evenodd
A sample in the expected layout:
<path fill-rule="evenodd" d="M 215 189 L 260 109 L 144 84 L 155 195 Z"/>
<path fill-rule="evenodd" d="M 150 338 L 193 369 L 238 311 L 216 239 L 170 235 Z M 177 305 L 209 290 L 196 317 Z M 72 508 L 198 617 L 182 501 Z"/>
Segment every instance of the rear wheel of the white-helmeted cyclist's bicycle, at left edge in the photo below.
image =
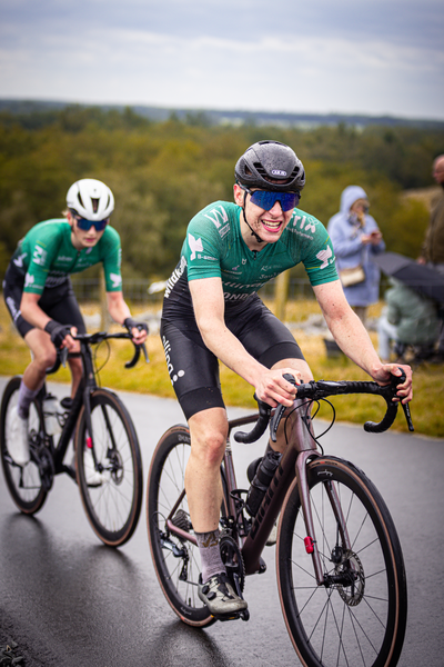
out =
<path fill-rule="evenodd" d="M 37 514 L 47 499 L 48 492 L 43 489 L 39 466 L 32 456 L 34 445 L 40 440 L 43 427 L 43 414 L 38 400 L 33 400 L 29 411 L 30 452 L 31 460 L 23 467 L 18 466 L 8 452 L 9 415 L 19 398 L 21 377 L 13 377 L 7 385 L 1 400 L 0 411 L 0 440 L 1 465 L 4 479 L 17 507 L 27 515 Z"/>

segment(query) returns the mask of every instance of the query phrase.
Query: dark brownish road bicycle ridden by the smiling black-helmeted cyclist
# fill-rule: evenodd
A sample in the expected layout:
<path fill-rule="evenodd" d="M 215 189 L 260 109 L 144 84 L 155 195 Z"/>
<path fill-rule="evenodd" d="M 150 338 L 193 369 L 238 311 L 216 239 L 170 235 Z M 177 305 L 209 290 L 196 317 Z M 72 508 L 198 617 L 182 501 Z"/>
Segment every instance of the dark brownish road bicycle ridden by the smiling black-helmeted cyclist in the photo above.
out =
<path fill-rule="evenodd" d="M 382 432 L 395 419 L 397 401 L 392 399 L 404 379 L 404 375 L 394 378 L 385 387 L 312 381 L 297 387 L 290 410 L 283 406 L 272 410 L 259 402 L 259 414 L 229 422 L 221 465 L 222 559 L 242 596 L 245 576 L 266 567 L 261 554 L 279 519 L 279 596 L 290 638 L 306 667 L 393 667 L 398 660 L 407 593 L 394 522 L 362 470 L 324 454 L 314 436 L 311 407 L 316 404 L 319 409 L 319 401 L 334 395 L 382 396 L 387 404 L 383 420 L 364 425 L 366 431 Z M 413 430 L 408 406 L 403 408 Z M 249 489 L 238 488 L 230 435 L 256 422 L 251 434 L 234 432 L 236 441 L 253 442 L 270 421 L 275 441 L 281 419 L 287 446 L 258 512 L 249 516 Z M 184 489 L 190 449 L 186 426 L 170 428 L 159 441 L 148 477 L 147 520 L 155 573 L 168 603 L 185 624 L 204 627 L 218 618 L 198 597 L 200 558 Z M 231 618 L 248 620 L 249 616 L 246 610 Z"/>

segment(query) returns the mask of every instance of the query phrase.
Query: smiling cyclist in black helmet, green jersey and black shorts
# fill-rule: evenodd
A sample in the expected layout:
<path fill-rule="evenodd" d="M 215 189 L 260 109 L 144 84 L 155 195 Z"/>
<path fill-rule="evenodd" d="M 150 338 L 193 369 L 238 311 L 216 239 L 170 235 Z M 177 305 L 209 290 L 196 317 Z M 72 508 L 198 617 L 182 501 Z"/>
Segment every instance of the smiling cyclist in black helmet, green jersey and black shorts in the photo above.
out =
<path fill-rule="evenodd" d="M 293 405 L 297 389 L 284 374 L 297 384 L 313 379 L 293 336 L 256 290 L 303 262 L 341 349 L 377 382 L 401 374 L 395 365 L 381 362 L 350 308 L 325 228 L 296 208 L 305 172 L 294 151 L 278 141 L 254 143 L 239 159 L 235 180 L 234 205 L 218 201 L 191 220 L 167 285 L 161 323 L 168 369 L 191 434 L 185 488 L 202 565 L 199 597 L 216 616 L 246 608 L 226 580 L 219 549 L 228 419 L 218 359 L 272 407 Z M 403 368 L 398 400 L 405 402 L 412 398 L 412 372 Z M 283 451 L 279 435 L 273 449 Z"/>

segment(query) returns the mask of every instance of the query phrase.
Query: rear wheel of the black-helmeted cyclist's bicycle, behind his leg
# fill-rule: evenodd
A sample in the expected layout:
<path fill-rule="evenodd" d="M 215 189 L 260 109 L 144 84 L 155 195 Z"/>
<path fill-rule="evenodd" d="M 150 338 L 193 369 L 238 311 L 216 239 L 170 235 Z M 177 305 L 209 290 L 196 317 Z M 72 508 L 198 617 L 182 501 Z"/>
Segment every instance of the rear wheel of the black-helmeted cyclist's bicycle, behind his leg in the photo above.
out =
<path fill-rule="evenodd" d="M 184 490 L 190 451 L 190 430 L 185 426 L 171 427 L 159 440 L 148 476 L 148 536 L 155 574 L 169 605 L 183 623 L 208 627 L 215 619 L 198 596 L 199 549 L 193 542 L 172 536 L 167 527 L 167 517 Z M 183 521 L 192 530 L 189 517 L 184 495 L 175 508 L 173 520 Z M 174 547 L 176 554 L 183 556 L 174 556 Z"/>

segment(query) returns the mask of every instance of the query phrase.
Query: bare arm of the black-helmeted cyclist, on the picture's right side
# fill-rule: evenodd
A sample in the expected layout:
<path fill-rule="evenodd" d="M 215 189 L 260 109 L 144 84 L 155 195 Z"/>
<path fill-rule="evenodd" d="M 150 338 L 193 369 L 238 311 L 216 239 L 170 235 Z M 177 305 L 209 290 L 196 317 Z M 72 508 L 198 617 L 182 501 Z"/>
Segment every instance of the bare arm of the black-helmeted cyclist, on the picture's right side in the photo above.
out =
<path fill-rule="evenodd" d="M 313 287 L 325 321 L 340 348 L 380 384 L 390 381 L 390 376 L 400 376 L 398 365 L 382 364 L 370 336 L 360 318 L 349 306 L 341 282 L 326 282 Z M 401 366 L 405 382 L 400 385 L 397 396 L 403 402 L 412 400 L 412 369 Z"/>

